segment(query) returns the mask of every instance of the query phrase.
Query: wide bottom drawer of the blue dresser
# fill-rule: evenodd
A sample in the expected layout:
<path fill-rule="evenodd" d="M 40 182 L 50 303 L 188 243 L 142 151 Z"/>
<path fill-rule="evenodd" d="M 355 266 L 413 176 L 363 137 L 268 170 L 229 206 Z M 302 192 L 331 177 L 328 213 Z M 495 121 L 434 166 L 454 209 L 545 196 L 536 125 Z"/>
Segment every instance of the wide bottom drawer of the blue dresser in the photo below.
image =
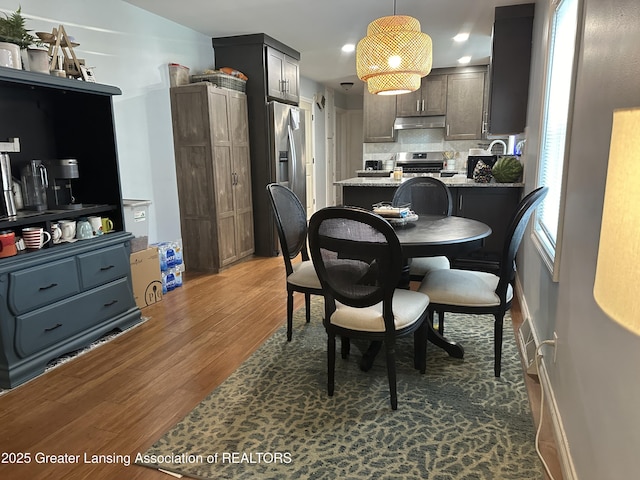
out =
<path fill-rule="evenodd" d="M 135 306 L 127 278 L 16 317 L 16 353 L 28 357 Z"/>

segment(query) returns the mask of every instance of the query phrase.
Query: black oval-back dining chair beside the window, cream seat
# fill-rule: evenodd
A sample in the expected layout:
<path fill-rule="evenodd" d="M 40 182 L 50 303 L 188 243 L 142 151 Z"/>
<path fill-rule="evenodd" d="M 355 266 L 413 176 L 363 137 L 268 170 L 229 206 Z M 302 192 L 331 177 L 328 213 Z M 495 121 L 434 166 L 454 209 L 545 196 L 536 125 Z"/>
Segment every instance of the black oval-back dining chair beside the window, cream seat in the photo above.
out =
<path fill-rule="evenodd" d="M 419 292 L 427 294 L 431 300 L 431 321 L 434 312 L 438 312 L 441 324 L 444 322 L 444 312 L 494 316 L 493 370 L 496 377 L 500 376 L 501 370 L 503 319 L 513 300 L 516 253 L 529 219 L 547 191 L 548 187 L 540 187 L 518 204 L 507 229 L 499 275 L 472 270 L 433 270 L 424 277 L 418 288 Z"/>

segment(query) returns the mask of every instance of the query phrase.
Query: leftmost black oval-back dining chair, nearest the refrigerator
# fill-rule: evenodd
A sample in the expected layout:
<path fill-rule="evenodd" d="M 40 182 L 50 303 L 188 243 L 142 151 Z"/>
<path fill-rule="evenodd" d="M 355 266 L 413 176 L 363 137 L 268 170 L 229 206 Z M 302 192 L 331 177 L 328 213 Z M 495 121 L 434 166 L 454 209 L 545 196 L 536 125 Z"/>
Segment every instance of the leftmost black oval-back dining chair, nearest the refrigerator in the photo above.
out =
<path fill-rule="evenodd" d="M 267 194 L 273 207 L 280 249 L 287 274 L 287 341 L 293 336 L 293 293 L 304 294 L 305 318 L 311 321 L 311 295 L 322 295 L 307 249 L 307 212 L 293 191 L 284 185 L 270 183 Z M 292 262 L 300 256 L 301 261 Z"/>

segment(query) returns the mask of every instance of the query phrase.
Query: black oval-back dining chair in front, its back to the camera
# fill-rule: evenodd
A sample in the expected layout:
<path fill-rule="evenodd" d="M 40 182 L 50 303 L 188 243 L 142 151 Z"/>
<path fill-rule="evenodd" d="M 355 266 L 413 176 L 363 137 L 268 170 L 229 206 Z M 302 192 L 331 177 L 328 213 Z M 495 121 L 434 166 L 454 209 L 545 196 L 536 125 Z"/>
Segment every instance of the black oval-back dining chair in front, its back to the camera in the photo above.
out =
<path fill-rule="evenodd" d="M 424 373 L 429 297 L 396 288 L 403 258 L 393 227 L 370 211 L 327 207 L 309 221 L 309 247 L 324 292 L 329 396 L 335 384 L 336 336 L 380 341 L 396 410 L 396 339 L 414 335 L 414 366 Z"/>

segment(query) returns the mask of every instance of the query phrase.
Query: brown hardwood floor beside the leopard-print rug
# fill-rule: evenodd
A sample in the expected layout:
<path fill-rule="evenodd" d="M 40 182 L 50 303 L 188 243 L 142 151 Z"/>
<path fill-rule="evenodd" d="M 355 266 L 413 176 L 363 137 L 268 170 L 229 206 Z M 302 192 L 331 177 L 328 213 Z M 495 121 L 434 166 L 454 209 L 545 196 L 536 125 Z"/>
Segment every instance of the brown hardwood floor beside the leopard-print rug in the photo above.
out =
<path fill-rule="evenodd" d="M 295 300 L 303 305 L 302 295 Z M 182 288 L 143 314 L 142 325 L 0 396 L 0 478 L 169 478 L 133 465 L 135 455 L 284 325 L 282 259 L 252 259 L 217 275 L 186 272 Z M 555 456 L 548 429 L 545 435 Z M 17 464 L 8 452 L 30 454 L 30 463 Z M 56 457 L 44 461 L 45 454 Z M 85 455 L 115 462 L 85 463 Z M 559 474 L 557 460 L 552 465 Z"/>

